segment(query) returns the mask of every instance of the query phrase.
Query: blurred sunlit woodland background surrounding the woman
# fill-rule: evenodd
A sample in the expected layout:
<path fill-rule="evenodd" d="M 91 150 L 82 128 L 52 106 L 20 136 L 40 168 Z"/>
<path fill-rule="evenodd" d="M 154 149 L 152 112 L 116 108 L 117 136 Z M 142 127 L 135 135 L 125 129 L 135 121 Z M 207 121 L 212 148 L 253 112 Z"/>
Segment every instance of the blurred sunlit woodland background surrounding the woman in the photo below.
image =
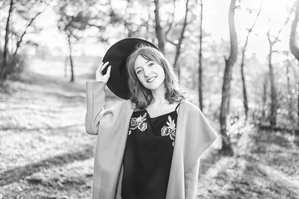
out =
<path fill-rule="evenodd" d="M 90 199 L 85 83 L 115 42 L 164 52 L 219 138 L 198 199 L 299 198 L 299 0 L 0 0 L 0 199 Z M 105 108 L 121 102 L 106 89 Z"/>

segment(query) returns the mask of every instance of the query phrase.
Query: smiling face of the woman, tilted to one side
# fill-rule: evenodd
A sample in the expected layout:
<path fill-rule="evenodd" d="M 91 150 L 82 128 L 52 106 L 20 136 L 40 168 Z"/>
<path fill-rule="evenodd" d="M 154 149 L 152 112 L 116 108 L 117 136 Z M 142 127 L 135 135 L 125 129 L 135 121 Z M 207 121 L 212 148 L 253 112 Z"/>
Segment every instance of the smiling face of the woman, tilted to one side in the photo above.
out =
<path fill-rule="evenodd" d="M 134 69 L 139 81 L 145 88 L 151 91 L 164 88 L 164 69 L 156 62 L 146 60 L 139 55 L 135 61 Z"/>

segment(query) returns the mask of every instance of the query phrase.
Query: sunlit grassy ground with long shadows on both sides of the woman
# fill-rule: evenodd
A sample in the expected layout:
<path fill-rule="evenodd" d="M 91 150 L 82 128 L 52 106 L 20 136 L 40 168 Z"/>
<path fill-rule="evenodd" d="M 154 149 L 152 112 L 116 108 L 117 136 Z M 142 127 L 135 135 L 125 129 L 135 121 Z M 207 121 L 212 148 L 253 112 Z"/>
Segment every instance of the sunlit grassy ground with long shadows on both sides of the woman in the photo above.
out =
<path fill-rule="evenodd" d="M 96 137 L 85 133 L 85 82 L 95 67 L 77 66 L 69 83 L 62 62 L 32 60 L 1 88 L 0 199 L 91 198 Z M 106 108 L 120 101 L 106 90 Z M 244 129 L 234 156 L 217 152 L 220 139 L 203 154 L 197 198 L 299 198 L 298 137 Z"/>

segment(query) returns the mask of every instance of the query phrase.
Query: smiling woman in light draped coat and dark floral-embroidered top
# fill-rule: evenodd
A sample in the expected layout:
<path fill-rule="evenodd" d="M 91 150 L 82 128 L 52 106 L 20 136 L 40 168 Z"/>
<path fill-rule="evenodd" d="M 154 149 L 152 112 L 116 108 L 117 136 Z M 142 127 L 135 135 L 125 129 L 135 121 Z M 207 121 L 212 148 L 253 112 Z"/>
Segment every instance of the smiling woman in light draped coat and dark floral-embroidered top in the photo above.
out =
<path fill-rule="evenodd" d="M 129 100 L 103 110 L 108 62 L 87 83 L 86 131 L 98 135 L 93 199 L 195 199 L 199 157 L 217 135 L 164 55 L 145 40 L 123 41 L 118 50 L 139 44 L 125 56 Z"/>

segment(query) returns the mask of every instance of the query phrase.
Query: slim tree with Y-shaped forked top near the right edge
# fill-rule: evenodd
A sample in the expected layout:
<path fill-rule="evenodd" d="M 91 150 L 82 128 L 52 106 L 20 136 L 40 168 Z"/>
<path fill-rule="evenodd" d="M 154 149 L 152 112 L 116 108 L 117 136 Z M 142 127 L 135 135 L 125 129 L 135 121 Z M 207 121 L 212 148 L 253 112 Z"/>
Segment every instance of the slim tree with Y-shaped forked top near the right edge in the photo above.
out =
<path fill-rule="evenodd" d="M 269 55 L 268 55 L 268 65 L 269 65 L 269 75 L 270 75 L 270 87 L 271 87 L 271 113 L 270 113 L 270 126 L 275 128 L 276 127 L 276 117 L 277 117 L 277 91 L 275 86 L 275 76 L 274 76 L 274 69 L 272 64 L 272 56 L 273 53 L 276 53 L 277 51 L 273 50 L 273 46 L 280 41 L 279 35 L 281 31 L 283 30 L 284 26 L 288 23 L 289 18 L 286 20 L 284 26 L 279 30 L 277 36 L 274 38 L 274 40 L 271 39 L 270 35 L 270 29 L 271 29 L 271 20 L 268 17 L 268 20 L 270 22 L 269 30 L 267 32 L 268 42 L 269 42 Z"/>

